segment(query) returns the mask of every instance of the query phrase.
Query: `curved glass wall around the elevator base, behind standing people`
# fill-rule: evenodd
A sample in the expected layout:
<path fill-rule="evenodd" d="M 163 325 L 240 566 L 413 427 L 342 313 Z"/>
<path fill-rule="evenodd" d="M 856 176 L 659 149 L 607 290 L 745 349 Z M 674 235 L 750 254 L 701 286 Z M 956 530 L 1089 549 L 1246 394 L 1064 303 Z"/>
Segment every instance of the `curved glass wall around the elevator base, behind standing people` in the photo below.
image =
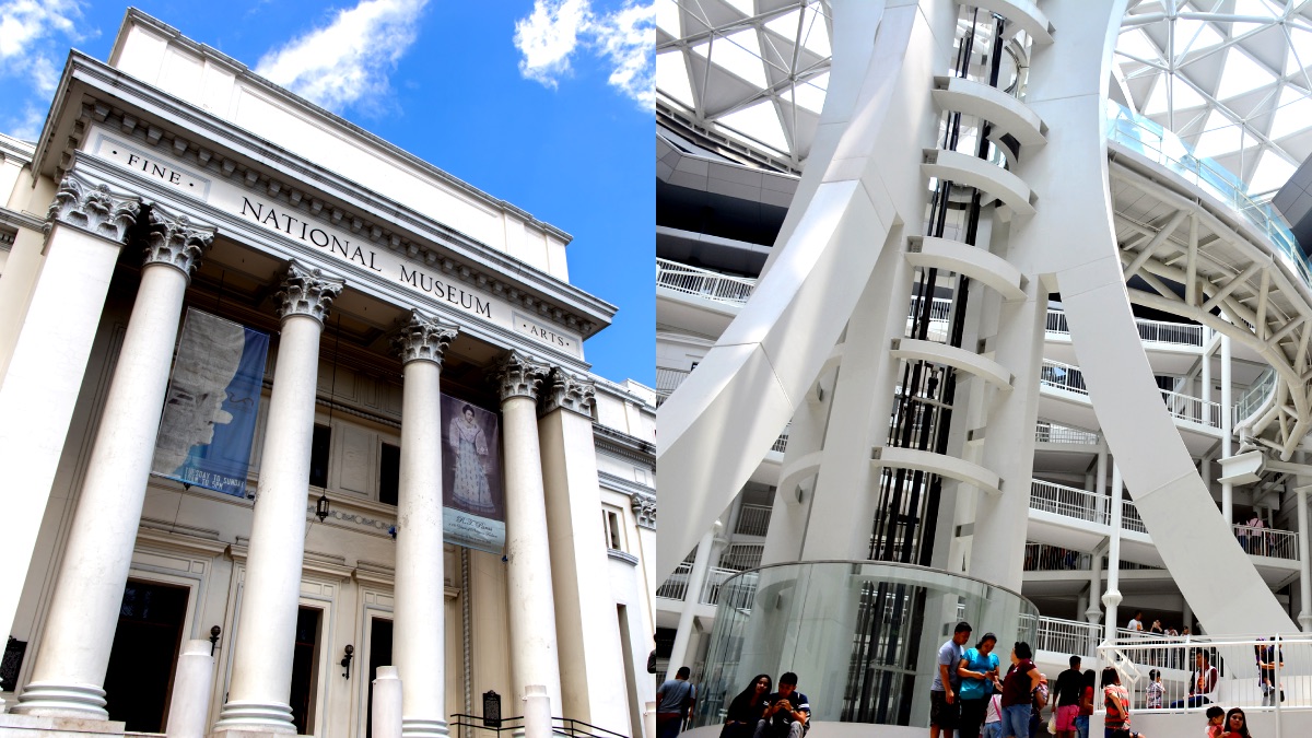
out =
<path fill-rule="evenodd" d="M 757 674 L 798 674 L 820 721 L 929 725 L 938 647 L 958 621 L 1034 643 L 1038 609 L 1021 595 L 935 569 L 870 561 L 782 563 L 744 571 L 719 591 L 697 700 L 697 725 L 724 721 Z"/>

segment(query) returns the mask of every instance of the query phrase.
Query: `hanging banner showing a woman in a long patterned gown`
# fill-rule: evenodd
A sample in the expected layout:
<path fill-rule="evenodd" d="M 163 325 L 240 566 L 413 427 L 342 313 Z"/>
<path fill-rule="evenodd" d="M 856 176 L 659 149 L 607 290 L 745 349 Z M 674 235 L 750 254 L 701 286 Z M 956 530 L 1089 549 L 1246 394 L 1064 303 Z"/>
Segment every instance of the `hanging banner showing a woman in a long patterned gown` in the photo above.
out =
<path fill-rule="evenodd" d="M 496 554 L 505 549 L 497 415 L 445 394 L 442 512 L 446 542 Z"/>

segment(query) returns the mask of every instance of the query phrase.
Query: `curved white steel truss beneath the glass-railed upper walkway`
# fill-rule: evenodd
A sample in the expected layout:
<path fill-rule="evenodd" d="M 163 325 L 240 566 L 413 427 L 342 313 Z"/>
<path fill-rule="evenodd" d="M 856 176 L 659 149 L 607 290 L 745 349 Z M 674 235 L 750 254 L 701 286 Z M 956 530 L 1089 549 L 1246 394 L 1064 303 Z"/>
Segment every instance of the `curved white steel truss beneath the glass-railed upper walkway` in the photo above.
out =
<path fill-rule="evenodd" d="M 1262 411 L 1237 419 L 1249 443 L 1288 461 L 1312 429 L 1312 292 L 1210 206 L 1113 163 L 1117 242 L 1130 301 L 1211 327 L 1260 355 L 1275 383 Z"/>

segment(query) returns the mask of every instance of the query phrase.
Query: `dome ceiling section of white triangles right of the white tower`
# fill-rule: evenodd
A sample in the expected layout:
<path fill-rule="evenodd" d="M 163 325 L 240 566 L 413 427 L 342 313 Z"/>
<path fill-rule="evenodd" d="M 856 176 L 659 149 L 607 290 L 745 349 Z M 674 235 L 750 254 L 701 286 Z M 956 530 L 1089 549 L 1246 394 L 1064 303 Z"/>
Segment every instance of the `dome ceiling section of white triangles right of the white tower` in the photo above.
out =
<path fill-rule="evenodd" d="M 1312 155 L 1312 3 L 1130 0 L 1111 97 L 1263 197 Z"/>

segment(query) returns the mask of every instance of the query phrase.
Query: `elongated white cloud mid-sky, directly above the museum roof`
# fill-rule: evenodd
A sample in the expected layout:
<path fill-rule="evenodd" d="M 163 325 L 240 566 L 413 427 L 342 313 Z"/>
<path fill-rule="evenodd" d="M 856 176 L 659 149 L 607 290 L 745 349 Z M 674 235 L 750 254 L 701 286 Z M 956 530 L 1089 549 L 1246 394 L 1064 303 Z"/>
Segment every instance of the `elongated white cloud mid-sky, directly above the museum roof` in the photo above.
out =
<path fill-rule="evenodd" d="M 428 0 L 362 0 L 332 22 L 265 54 L 256 72 L 341 112 L 388 91 L 387 75 L 415 43 Z"/>

